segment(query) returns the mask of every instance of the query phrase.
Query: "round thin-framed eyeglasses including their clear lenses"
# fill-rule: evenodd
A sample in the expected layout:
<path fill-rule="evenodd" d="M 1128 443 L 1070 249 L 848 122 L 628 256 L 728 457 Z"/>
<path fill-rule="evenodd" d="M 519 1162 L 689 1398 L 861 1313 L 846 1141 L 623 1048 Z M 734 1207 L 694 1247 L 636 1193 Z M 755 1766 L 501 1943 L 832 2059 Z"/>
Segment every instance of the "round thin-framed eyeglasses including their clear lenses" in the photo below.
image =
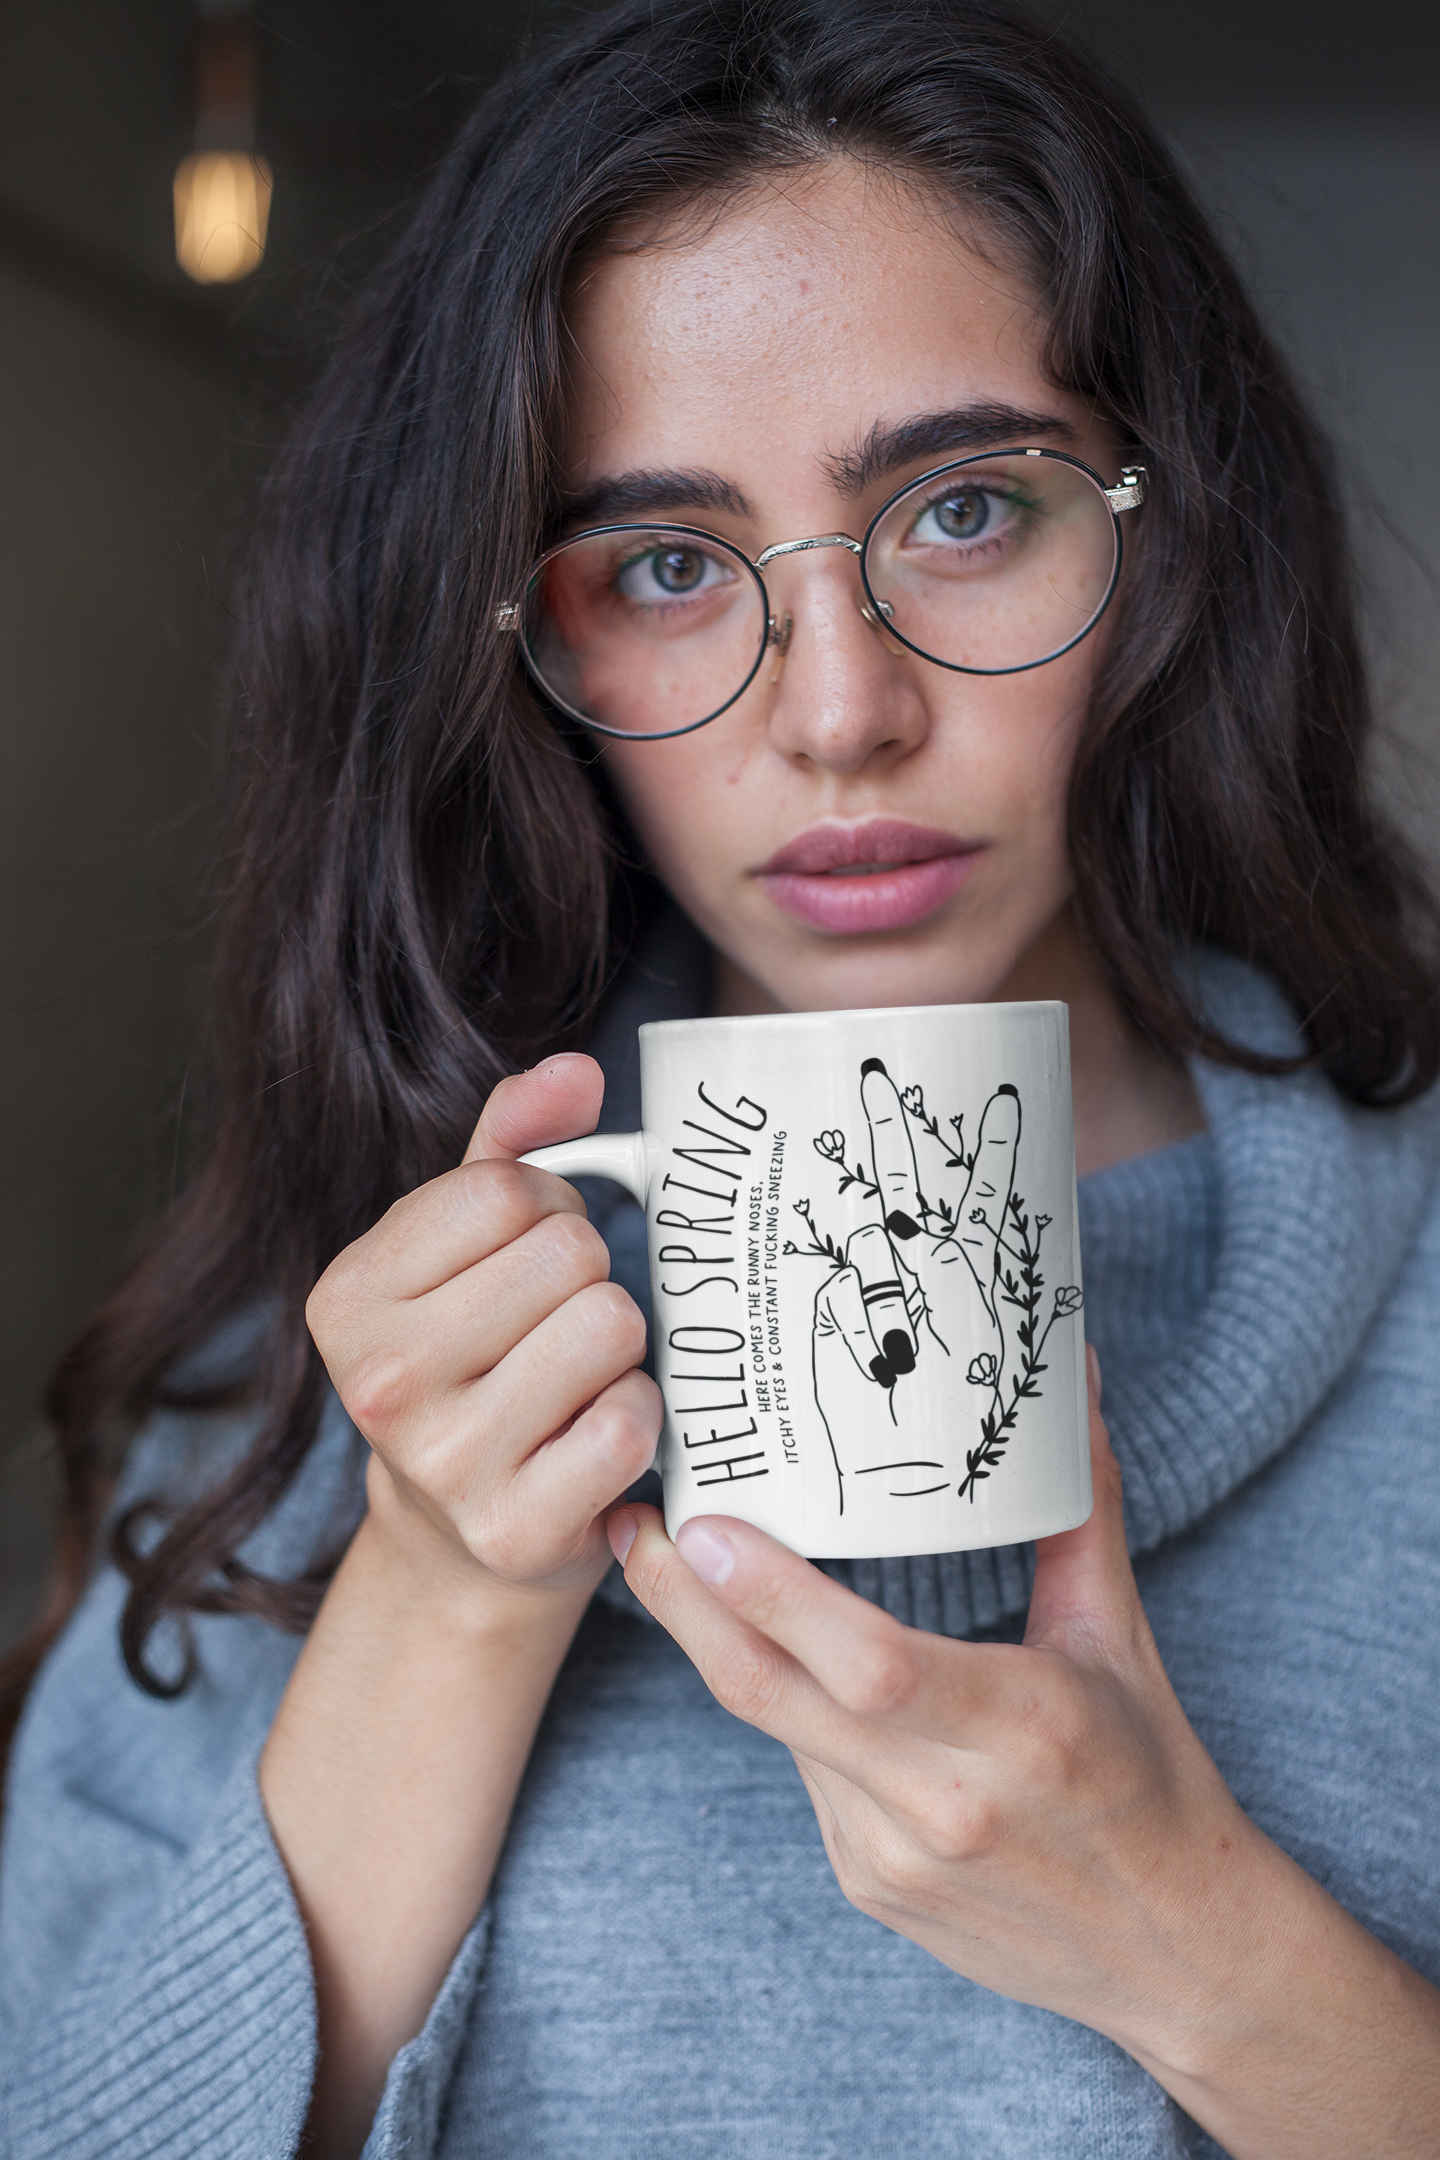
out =
<path fill-rule="evenodd" d="M 1120 486 L 1060 449 L 1000 449 L 922 473 L 877 510 L 864 540 L 779 540 L 756 562 L 695 525 L 596 525 L 548 549 L 499 626 L 572 719 L 658 741 L 704 728 L 745 696 L 766 646 L 782 654 L 762 570 L 842 546 L 859 557 L 861 616 L 935 667 L 1019 674 L 1060 659 L 1105 613 L 1120 577 Z"/>

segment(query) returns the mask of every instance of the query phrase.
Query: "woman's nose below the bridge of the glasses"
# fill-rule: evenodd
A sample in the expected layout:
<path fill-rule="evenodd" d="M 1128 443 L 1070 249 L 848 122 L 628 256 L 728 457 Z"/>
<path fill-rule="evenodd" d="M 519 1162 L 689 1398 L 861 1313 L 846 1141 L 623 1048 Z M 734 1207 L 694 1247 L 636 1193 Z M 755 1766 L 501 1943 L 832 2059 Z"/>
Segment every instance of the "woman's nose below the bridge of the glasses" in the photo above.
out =
<path fill-rule="evenodd" d="M 782 646 L 760 678 L 773 685 L 775 750 L 836 773 L 857 773 L 877 758 L 896 762 L 915 750 L 930 728 L 915 670 L 861 613 L 866 588 L 855 564 L 812 555 L 769 577 Z"/>

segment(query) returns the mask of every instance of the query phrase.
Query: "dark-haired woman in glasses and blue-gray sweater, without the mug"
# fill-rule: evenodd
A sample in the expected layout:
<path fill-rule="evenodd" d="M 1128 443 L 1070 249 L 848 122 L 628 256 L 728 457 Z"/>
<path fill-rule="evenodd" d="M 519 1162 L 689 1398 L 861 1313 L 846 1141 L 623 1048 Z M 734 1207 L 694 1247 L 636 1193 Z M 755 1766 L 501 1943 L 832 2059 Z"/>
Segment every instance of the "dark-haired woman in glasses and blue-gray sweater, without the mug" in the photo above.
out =
<path fill-rule="evenodd" d="M 1000 583 L 1056 503 L 1114 598 L 905 639 L 885 534 Z M 1434 944 L 1142 121 L 969 0 L 600 15 L 261 562 L 216 1140 L 54 1395 L 73 1570 L 145 1434 L 17 1743 L 11 2151 L 1434 2151 Z M 749 680 L 646 672 L 734 592 Z M 643 1017 L 1017 996 L 1140 1590 L 1099 1361 L 1034 1564 L 671 1547 L 639 1216 L 514 1158 Z"/>

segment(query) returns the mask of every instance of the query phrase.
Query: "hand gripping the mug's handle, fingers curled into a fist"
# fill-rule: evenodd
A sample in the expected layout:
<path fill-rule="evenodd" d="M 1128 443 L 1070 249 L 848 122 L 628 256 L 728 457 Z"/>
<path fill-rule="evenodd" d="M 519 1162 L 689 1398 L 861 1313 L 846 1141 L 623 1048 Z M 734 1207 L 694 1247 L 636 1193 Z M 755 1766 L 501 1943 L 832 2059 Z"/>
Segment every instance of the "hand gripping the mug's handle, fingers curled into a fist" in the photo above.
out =
<path fill-rule="evenodd" d="M 654 1456 L 639 1307 L 574 1188 L 514 1162 L 589 1132 L 602 1089 L 585 1056 L 501 1080 L 464 1162 L 395 1201 L 307 1307 L 373 1449 L 376 1531 L 458 1592 L 583 1601 L 611 1557 L 602 1512 Z"/>

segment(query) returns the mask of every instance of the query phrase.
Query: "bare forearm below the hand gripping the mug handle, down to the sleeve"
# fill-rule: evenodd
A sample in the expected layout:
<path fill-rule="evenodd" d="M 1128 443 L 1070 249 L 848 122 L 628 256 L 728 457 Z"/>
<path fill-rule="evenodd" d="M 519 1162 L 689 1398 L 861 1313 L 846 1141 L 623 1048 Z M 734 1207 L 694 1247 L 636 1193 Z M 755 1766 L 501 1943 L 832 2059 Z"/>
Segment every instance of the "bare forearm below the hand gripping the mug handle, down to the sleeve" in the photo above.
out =
<path fill-rule="evenodd" d="M 358 2154 L 386 2065 L 488 1894 L 602 1572 L 596 1560 L 563 1581 L 507 1581 L 386 1473 L 371 1471 L 369 1493 L 261 1758 L 315 1970 L 320 2156 Z"/>

